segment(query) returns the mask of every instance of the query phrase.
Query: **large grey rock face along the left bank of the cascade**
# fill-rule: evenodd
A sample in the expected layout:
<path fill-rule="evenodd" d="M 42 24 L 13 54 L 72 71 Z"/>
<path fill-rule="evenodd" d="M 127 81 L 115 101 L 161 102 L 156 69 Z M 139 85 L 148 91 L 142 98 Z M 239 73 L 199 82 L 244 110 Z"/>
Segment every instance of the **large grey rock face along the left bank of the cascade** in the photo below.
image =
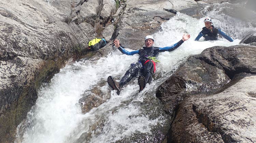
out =
<path fill-rule="evenodd" d="M 0 5 L 0 142 L 8 142 L 41 83 L 68 59 L 86 53 L 100 27 L 103 1 L 2 0 Z M 115 3 L 107 7 L 106 19 Z"/>

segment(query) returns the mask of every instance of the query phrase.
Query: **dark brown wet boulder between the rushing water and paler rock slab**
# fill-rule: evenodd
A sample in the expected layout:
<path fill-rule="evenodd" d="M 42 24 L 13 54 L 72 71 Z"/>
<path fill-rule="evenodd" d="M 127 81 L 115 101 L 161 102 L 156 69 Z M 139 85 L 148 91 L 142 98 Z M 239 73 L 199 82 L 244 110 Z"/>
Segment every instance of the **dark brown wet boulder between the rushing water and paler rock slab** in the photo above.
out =
<path fill-rule="evenodd" d="M 157 97 L 173 114 L 187 93 L 216 92 L 239 73 L 256 73 L 254 46 L 212 47 L 190 56 L 176 72 L 158 87 Z"/>

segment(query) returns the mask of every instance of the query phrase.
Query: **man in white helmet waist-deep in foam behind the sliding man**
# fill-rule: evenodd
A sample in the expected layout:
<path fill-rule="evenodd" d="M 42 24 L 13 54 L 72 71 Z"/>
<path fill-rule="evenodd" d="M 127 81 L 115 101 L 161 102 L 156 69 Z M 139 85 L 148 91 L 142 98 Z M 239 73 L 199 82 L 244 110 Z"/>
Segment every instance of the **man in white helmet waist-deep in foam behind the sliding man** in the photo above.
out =
<path fill-rule="evenodd" d="M 228 41 L 233 42 L 233 39 L 231 37 L 222 32 L 221 29 L 217 29 L 212 25 L 212 19 L 210 17 L 205 18 L 203 22 L 205 27 L 196 37 L 196 41 L 198 41 L 202 36 L 205 38 L 205 41 L 217 40 L 217 34 L 220 34 Z"/>

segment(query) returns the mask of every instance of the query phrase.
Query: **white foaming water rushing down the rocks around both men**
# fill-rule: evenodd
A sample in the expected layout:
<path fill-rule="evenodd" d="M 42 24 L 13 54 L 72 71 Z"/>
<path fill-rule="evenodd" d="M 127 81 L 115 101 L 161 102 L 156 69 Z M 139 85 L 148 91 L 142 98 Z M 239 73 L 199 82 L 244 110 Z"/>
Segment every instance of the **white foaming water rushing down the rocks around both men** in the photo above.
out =
<path fill-rule="evenodd" d="M 62 68 L 50 83 L 42 85 L 38 91 L 36 104 L 28 113 L 26 120 L 17 128 L 16 143 L 103 143 L 122 141 L 143 134 L 148 140 L 154 128 L 163 127 L 168 116 L 155 97 L 155 91 L 167 77 L 191 54 L 199 54 L 212 46 L 237 45 L 241 34 L 236 32 L 246 29 L 242 21 L 237 21 L 236 28 L 228 30 L 224 19 L 233 21 L 226 15 L 214 17 L 210 13 L 216 27 L 234 38 L 234 42 L 226 39 L 218 41 L 194 41 L 204 27 L 203 18 L 195 19 L 178 13 L 162 24 L 162 30 L 155 33 L 155 46 L 164 47 L 178 42 L 183 33 L 191 38 L 172 52 L 158 55 L 157 71 L 150 85 L 139 93 L 135 78 L 129 82 L 118 96 L 106 83 L 112 75 L 118 81 L 129 65 L 138 59 L 138 55 L 124 55 L 114 50 L 100 59 L 83 59 Z M 97 89 L 102 95 L 99 99 L 105 102 L 100 106 L 82 114 L 79 100 L 82 96 L 93 95 Z M 95 95 L 95 93 L 94 93 Z M 97 96 L 97 95 L 96 95 Z"/>

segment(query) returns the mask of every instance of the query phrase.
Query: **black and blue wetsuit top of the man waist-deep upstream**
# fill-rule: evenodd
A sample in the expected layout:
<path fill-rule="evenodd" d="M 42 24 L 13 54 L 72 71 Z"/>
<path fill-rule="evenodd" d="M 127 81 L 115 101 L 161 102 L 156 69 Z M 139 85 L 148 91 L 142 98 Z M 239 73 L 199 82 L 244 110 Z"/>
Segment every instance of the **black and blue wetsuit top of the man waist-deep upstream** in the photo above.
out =
<path fill-rule="evenodd" d="M 220 34 L 228 41 L 233 42 L 233 39 L 231 37 L 222 32 L 221 29 L 214 28 L 214 26 L 212 26 L 212 30 L 209 30 L 206 27 L 204 27 L 195 40 L 198 41 L 202 36 L 205 38 L 205 41 L 217 40 L 217 34 Z"/>

